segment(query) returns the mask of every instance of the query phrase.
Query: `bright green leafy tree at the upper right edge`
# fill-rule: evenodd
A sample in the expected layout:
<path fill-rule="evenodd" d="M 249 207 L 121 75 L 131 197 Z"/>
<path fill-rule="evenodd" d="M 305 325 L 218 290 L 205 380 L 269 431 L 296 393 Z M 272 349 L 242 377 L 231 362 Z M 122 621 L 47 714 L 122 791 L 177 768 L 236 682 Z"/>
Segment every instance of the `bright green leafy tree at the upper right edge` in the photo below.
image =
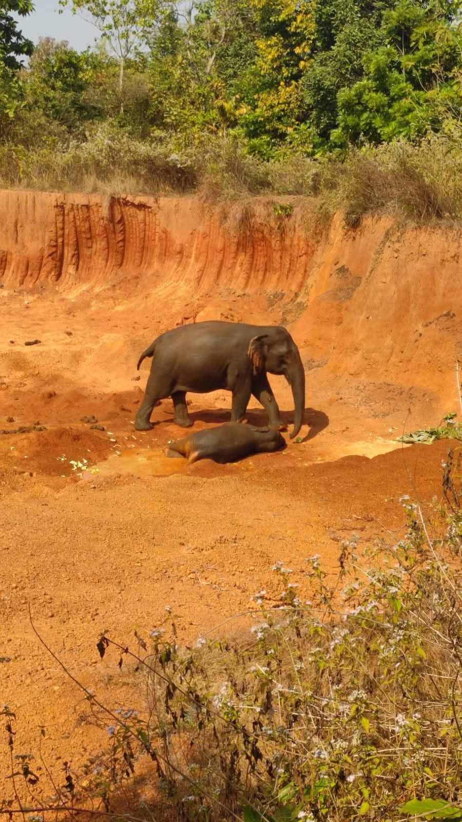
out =
<path fill-rule="evenodd" d="M 338 145 L 410 140 L 460 120 L 462 33 L 455 2 L 398 0 L 383 15 L 381 45 L 363 56 L 363 79 L 338 94 Z"/>

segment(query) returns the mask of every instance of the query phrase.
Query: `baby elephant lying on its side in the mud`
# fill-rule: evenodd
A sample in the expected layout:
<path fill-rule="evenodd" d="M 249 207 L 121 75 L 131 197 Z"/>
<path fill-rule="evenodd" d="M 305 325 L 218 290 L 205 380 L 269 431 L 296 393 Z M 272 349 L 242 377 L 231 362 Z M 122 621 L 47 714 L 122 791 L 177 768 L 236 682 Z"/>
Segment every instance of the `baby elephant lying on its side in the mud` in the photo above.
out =
<path fill-rule="evenodd" d="M 256 428 L 242 423 L 224 423 L 215 428 L 205 428 L 177 442 L 170 442 L 167 456 L 181 454 L 188 463 L 196 459 L 214 459 L 227 463 L 243 459 L 251 454 L 277 451 L 285 446 L 284 436 L 273 428 Z"/>

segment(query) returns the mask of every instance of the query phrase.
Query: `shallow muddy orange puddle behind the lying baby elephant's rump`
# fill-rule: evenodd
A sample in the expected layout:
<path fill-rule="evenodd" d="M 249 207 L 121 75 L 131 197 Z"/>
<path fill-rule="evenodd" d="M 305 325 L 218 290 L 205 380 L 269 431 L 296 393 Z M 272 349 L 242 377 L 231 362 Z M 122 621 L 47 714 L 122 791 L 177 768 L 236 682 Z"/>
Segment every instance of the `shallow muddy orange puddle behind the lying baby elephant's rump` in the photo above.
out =
<path fill-rule="evenodd" d="M 82 476 L 88 478 L 97 474 L 99 477 L 109 477 L 114 473 L 129 473 L 134 477 L 169 477 L 181 471 L 186 464 L 187 460 L 183 457 L 167 457 L 161 450 L 122 450 L 120 455 L 111 454 L 108 459 L 96 463 Z"/>

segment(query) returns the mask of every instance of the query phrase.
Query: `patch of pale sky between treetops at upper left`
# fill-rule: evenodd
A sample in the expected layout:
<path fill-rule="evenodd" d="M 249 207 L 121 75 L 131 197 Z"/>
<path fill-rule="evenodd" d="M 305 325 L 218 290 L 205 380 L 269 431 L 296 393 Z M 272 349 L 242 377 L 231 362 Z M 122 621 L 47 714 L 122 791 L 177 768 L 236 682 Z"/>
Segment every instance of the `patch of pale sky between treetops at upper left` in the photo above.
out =
<path fill-rule="evenodd" d="M 19 18 L 19 28 L 25 37 L 37 43 L 39 37 L 54 37 L 68 40 L 72 48 L 82 48 L 95 44 L 99 32 L 94 25 L 82 20 L 66 10 L 58 14 L 58 0 L 35 0 L 35 12 Z"/>

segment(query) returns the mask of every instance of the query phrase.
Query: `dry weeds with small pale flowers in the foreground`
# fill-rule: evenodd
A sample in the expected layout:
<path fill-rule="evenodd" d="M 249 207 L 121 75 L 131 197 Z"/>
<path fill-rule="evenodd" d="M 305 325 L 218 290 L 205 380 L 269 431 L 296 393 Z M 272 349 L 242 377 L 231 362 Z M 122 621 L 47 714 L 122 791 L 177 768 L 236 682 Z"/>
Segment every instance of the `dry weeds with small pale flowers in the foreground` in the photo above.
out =
<path fill-rule="evenodd" d="M 308 557 L 298 573 L 311 580 L 309 601 L 277 562 L 280 605 L 256 592 L 255 624 L 238 640 L 199 637 L 181 649 L 169 607 L 150 638 L 136 633 L 134 649 L 99 637 L 100 657 L 135 664 L 147 705 L 141 690 L 134 711 L 84 689 L 110 750 L 85 789 L 69 770 L 53 808 L 72 804 L 75 814 L 98 800 L 115 814 L 114 797 L 152 761 L 157 810 L 170 820 L 462 819 L 460 451 L 450 450 L 442 483 L 442 502 L 425 516 L 401 498 L 398 540 L 363 552 L 354 534 L 343 543 L 334 587 Z M 125 810 L 159 818 L 146 803 Z M 46 803 L 27 811 L 51 820 Z"/>

